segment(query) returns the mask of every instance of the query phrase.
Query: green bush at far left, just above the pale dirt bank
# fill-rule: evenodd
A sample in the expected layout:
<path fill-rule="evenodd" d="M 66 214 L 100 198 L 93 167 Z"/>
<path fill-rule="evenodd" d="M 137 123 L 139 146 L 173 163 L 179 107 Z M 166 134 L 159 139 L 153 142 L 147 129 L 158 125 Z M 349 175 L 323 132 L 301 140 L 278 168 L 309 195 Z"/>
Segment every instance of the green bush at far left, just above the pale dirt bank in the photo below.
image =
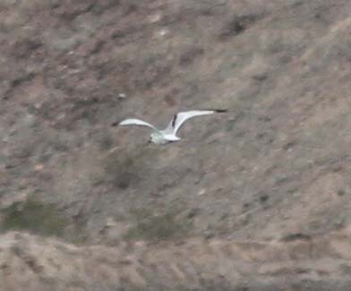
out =
<path fill-rule="evenodd" d="M 27 230 L 38 235 L 62 237 L 69 220 L 56 210 L 55 204 L 35 199 L 16 202 L 3 210 L 1 230 Z"/>

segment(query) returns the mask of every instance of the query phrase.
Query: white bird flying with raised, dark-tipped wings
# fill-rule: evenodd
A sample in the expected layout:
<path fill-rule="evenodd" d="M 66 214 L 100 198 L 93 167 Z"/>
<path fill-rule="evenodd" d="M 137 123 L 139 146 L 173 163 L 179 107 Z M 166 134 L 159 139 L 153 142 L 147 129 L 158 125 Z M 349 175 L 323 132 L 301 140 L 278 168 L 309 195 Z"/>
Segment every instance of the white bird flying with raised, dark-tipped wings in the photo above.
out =
<path fill-rule="evenodd" d="M 178 112 L 167 125 L 167 127 L 163 130 L 159 130 L 156 126 L 144 122 L 140 119 L 136 118 L 128 118 L 124 119 L 120 123 L 113 123 L 112 126 L 116 125 L 142 125 L 148 126 L 153 130 L 153 133 L 150 135 L 150 142 L 156 144 L 166 144 L 172 141 L 180 141 L 180 137 L 176 136 L 176 132 L 179 128 L 184 124 L 184 122 L 190 118 L 196 116 L 208 116 L 215 113 L 224 113 L 227 112 L 225 109 L 213 109 L 213 110 L 191 110 Z"/>

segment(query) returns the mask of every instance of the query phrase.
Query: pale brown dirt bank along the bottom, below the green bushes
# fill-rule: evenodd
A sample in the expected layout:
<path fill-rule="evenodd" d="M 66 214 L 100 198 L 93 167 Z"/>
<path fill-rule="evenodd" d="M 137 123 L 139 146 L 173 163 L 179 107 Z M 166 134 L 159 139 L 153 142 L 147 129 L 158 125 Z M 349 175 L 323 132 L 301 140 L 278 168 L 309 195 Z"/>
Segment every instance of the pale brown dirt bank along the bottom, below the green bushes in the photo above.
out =
<path fill-rule="evenodd" d="M 271 242 L 79 247 L 10 232 L 0 243 L 1 290 L 347 290 L 350 239 L 345 229 Z"/>

